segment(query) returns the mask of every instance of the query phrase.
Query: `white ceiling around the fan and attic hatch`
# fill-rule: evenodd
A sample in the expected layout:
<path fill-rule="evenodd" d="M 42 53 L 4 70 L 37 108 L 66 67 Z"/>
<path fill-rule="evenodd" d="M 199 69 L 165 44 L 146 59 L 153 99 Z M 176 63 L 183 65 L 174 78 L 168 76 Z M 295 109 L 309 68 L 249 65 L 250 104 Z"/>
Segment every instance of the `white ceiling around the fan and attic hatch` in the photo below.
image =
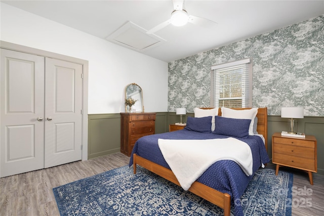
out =
<path fill-rule="evenodd" d="M 166 1 L 2 1 L 106 39 L 128 21 L 149 30 L 170 19 Z M 323 1 L 185 1 L 189 15 L 208 18 L 213 28 L 187 23 L 156 31 L 166 41 L 139 51 L 171 62 L 324 14 Z"/>

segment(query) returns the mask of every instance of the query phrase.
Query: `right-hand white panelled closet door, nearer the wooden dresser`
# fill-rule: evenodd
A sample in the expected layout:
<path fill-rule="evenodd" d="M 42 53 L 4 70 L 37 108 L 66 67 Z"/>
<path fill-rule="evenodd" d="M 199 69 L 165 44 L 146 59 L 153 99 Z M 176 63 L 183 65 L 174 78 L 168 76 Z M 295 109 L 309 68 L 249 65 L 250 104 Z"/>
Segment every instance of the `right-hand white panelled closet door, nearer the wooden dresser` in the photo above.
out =
<path fill-rule="evenodd" d="M 45 168 L 82 159 L 82 69 L 46 58 Z"/>

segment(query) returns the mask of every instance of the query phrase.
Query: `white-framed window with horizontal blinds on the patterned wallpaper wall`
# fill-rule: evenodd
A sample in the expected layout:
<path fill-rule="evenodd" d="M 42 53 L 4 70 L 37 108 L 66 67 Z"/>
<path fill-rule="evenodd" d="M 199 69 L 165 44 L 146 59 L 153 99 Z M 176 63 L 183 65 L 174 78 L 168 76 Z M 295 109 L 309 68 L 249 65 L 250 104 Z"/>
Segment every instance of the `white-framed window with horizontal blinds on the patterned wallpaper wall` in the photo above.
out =
<path fill-rule="evenodd" d="M 211 106 L 252 107 L 252 60 L 212 66 Z"/>

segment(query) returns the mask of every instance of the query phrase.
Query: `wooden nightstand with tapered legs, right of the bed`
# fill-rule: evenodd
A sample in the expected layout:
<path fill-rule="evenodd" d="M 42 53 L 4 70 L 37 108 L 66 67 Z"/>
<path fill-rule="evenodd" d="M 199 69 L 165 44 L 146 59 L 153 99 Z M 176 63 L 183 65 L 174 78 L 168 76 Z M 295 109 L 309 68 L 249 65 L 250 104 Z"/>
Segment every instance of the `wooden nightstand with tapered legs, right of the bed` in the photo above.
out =
<path fill-rule="evenodd" d="M 279 166 L 298 168 L 308 173 L 313 185 L 312 172 L 317 172 L 317 141 L 314 136 L 305 138 L 285 137 L 281 133 L 272 135 L 272 163 L 276 164 L 275 175 Z"/>

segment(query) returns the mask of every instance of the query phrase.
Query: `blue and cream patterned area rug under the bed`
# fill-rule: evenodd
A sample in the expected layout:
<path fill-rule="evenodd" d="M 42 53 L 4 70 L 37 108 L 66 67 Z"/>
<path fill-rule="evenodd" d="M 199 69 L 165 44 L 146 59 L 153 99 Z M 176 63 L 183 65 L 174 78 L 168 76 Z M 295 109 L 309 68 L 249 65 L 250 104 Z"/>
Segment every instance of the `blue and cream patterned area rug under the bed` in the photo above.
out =
<path fill-rule="evenodd" d="M 245 215 L 291 215 L 293 174 L 260 169 L 235 204 Z M 223 209 L 142 168 L 123 166 L 53 188 L 61 215 L 223 215 Z M 287 205 L 286 205 L 287 203 Z"/>

